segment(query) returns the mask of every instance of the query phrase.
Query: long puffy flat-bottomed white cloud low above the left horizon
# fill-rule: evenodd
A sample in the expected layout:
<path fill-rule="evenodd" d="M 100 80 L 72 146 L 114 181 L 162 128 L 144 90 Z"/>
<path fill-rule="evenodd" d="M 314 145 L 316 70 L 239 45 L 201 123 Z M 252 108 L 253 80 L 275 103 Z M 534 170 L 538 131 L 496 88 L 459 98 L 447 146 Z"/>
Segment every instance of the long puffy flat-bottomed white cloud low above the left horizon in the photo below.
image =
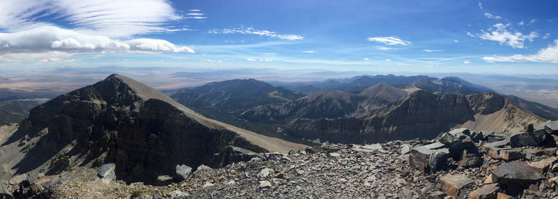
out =
<path fill-rule="evenodd" d="M 189 47 L 177 47 L 166 40 L 139 38 L 114 40 L 105 36 L 88 35 L 54 26 L 41 26 L 17 33 L 0 33 L 0 54 L 43 53 L 48 51 L 80 52 L 189 52 Z"/>

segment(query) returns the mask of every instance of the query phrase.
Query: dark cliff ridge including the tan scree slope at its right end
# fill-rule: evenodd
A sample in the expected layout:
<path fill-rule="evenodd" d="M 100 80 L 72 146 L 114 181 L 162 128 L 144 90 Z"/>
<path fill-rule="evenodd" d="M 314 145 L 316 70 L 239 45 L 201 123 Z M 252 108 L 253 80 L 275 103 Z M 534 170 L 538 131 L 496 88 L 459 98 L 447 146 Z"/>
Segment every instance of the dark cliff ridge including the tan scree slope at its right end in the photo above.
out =
<path fill-rule="evenodd" d="M 372 116 L 338 119 L 300 119 L 285 125 L 293 136 L 335 143 L 374 143 L 412 138 L 435 138 L 455 127 L 511 131 L 543 122 L 529 111 L 495 93 L 435 95 L 418 90 Z"/>

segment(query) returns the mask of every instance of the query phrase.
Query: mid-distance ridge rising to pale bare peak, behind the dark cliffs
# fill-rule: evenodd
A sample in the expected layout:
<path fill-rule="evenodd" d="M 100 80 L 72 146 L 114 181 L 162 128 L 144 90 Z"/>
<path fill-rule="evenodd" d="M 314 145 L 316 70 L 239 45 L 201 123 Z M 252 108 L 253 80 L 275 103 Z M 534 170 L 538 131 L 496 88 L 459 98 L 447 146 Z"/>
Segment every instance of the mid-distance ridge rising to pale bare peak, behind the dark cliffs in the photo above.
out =
<path fill-rule="evenodd" d="M 292 102 L 255 106 L 241 113 L 239 118 L 248 121 L 294 122 L 367 116 L 391 102 L 407 95 L 407 91 L 379 83 L 359 93 L 340 90 L 322 90 Z"/>

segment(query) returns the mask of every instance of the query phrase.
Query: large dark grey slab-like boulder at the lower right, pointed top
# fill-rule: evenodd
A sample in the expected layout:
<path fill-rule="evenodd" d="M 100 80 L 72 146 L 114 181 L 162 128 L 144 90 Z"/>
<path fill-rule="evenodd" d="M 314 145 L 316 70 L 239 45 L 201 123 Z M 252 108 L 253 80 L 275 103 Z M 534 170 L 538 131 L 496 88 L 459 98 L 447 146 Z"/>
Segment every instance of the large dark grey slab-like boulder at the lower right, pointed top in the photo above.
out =
<path fill-rule="evenodd" d="M 546 177 L 525 163 L 525 161 L 510 161 L 492 170 L 492 181 L 499 183 L 513 182 L 525 185 L 544 180 Z"/>

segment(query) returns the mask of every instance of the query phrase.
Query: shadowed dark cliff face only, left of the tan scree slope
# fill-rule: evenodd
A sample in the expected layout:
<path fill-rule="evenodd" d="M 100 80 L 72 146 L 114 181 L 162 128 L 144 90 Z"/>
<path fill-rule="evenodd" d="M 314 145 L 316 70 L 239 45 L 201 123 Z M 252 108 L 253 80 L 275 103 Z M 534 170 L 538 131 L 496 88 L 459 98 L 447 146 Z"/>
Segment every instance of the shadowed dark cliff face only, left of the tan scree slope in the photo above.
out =
<path fill-rule="evenodd" d="M 417 91 L 368 118 L 300 121 L 287 127 L 286 132 L 340 143 L 435 138 L 473 115 L 463 95 Z"/>

